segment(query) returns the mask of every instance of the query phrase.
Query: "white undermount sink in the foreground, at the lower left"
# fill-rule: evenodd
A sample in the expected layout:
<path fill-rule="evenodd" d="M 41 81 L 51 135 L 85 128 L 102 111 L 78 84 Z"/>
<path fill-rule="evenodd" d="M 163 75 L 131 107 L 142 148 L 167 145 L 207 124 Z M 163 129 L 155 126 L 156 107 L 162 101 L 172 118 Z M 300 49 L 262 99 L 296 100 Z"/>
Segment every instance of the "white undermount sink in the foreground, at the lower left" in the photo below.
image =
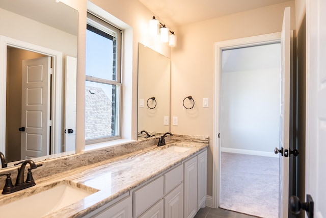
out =
<path fill-rule="evenodd" d="M 29 197 L 0 206 L 0 216 L 42 217 L 82 200 L 95 191 L 78 188 L 64 182 Z"/>

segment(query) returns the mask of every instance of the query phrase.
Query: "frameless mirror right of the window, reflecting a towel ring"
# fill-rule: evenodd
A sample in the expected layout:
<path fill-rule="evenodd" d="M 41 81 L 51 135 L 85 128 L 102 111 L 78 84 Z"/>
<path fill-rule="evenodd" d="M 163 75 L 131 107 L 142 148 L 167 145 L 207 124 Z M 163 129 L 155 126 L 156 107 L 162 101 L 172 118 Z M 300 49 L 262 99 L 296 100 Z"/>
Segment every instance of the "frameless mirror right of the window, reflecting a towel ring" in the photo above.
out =
<path fill-rule="evenodd" d="M 138 139 L 169 132 L 171 60 L 138 43 Z"/>

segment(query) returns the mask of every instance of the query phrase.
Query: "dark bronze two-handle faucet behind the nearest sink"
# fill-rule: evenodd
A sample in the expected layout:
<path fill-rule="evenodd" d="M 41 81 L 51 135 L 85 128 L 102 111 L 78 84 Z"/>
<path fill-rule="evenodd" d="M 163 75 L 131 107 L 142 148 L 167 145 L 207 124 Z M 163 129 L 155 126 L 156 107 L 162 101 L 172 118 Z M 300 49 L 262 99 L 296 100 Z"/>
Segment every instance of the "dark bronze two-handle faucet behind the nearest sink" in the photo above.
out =
<path fill-rule="evenodd" d="M 33 179 L 32 169 L 42 166 L 42 164 L 36 164 L 33 160 L 28 159 L 19 163 L 15 163 L 14 165 L 18 165 L 20 163 L 22 164 L 21 167 L 18 168 L 18 175 L 16 178 L 15 186 L 13 186 L 11 182 L 10 174 L 0 174 L 0 176 L 7 176 L 6 184 L 2 191 L 3 194 L 9 194 L 36 185 Z M 26 181 L 24 182 L 24 171 L 25 171 L 26 164 L 30 164 L 30 168 L 28 168 L 27 178 Z"/>

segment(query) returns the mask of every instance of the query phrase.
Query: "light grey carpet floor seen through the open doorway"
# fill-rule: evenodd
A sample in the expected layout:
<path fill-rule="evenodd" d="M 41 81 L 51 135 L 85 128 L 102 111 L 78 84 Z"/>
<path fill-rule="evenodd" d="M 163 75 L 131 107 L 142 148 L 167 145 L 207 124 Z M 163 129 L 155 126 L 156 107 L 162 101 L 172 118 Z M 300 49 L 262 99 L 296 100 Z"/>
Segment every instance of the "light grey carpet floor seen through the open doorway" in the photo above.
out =
<path fill-rule="evenodd" d="M 222 152 L 220 207 L 278 217 L 279 158 Z"/>

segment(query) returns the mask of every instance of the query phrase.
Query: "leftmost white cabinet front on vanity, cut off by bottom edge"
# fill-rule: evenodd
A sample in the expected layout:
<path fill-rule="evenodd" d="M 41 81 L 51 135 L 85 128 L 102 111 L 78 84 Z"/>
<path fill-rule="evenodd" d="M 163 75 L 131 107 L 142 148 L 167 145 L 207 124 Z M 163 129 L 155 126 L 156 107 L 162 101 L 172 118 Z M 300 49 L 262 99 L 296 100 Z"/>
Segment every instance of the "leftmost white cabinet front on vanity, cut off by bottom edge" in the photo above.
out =
<path fill-rule="evenodd" d="M 99 212 L 93 217 L 96 218 L 131 218 L 132 198 L 129 196 L 111 207 Z"/>

